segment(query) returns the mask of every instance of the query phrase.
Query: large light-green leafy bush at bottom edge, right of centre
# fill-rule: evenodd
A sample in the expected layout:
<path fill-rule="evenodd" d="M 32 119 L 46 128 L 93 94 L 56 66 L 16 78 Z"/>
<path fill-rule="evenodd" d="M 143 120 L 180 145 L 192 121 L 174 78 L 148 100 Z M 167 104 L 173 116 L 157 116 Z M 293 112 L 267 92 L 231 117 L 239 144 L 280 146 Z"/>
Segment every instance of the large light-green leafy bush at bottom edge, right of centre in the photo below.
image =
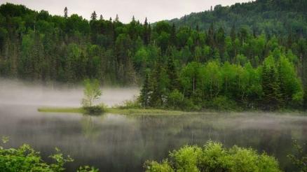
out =
<path fill-rule="evenodd" d="M 221 143 L 207 142 L 203 148 L 186 145 L 179 150 L 170 152 L 170 160 L 158 163 L 147 161 L 146 172 L 170 171 L 280 171 L 274 157 L 265 153 L 259 155 L 255 150 L 239 148 L 226 149 Z"/>

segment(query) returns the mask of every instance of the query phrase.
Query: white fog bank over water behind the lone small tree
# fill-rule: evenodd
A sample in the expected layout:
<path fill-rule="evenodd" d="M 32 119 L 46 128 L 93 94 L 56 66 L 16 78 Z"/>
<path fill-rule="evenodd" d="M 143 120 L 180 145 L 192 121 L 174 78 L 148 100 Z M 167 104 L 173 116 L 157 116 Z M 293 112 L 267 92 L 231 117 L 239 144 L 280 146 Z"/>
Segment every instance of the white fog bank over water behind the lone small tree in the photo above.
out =
<path fill-rule="evenodd" d="M 125 100 L 134 99 L 139 88 L 102 87 L 102 96 L 97 103 L 114 106 Z M 0 78 L 0 104 L 31 106 L 81 106 L 83 87 L 44 86 Z"/>

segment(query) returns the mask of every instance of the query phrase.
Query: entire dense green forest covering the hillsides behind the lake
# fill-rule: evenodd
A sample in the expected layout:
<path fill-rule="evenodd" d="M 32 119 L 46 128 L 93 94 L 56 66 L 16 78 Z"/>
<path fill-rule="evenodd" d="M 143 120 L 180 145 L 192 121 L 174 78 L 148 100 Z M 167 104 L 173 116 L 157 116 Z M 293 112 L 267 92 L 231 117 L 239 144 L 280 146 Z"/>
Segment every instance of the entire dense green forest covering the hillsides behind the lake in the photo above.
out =
<path fill-rule="evenodd" d="M 258 0 L 124 24 L 95 11 L 86 20 L 67 7 L 57 16 L 6 3 L 0 76 L 142 85 L 143 108 L 306 108 L 306 8 L 303 0 Z"/>

